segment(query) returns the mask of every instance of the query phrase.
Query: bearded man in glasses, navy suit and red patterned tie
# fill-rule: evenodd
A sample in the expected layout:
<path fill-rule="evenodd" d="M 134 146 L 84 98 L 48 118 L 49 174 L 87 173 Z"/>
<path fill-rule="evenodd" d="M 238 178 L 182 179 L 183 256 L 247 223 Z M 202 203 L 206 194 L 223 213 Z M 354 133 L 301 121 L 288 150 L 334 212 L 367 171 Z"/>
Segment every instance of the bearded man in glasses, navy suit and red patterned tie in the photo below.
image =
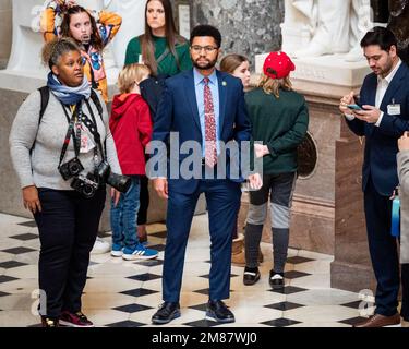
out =
<path fill-rule="evenodd" d="M 166 324 L 180 316 L 179 297 L 182 282 L 184 252 L 199 195 L 206 196 L 212 268 L 209 301 L 206 315 L 220 323 L 234 322 L 234 315 L 222 302 L 230 293 L 231 234 L 240 207 L 240 176 L 234 172 L 232 157 L 221 159 L 222 144 L 242 144 L 251 136 L 245 110 L 243 86 L 239 79 L 215 69 L 220 51 L 221 35 L 209 25 L 196 26 L 190 38 L 190 55 L 194 68 L 166 81 L 163 98 L 154 122 L 153 141 L 169 143 L 176 132 L 179 144 L 195 142 L 200 147 L 199 178 L 156 176 L 154 188 L 160 197 L 168 200 L 167 242 L 165 249 L 163 299 L 164 303 L 153 315 L 154 324 Z M 173 134 L 172 134 L 173 135 Z M 177 147 L 179 160 L 172 156 Z M 182 170 L 183 154 L 179 145 L 170 142 L 170 166 Z M 206 179 L 226 166 L 227 177 Z M 160 172 L 160 171 L 159 171 Z M 172 172 L 172 169 L 170 169 Z M 161 173 L 164 174 L 164 173 Z M 197 174 L 197 171 L 196 171 Z M 152 174 L 151 174 L 152 177 Z"/>

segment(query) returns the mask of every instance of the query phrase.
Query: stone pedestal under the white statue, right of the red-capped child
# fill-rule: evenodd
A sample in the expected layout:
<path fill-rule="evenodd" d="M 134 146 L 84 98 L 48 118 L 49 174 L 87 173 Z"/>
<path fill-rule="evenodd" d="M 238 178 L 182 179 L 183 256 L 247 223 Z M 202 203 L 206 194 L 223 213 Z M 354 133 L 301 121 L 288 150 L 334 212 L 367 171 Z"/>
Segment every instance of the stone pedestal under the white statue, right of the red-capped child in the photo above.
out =
<path fill-rule="evenodd" d="M 256 57 L 256 72 L 264 57 Z M 361 191 L 363 144 L 349 131 L 338 109 L 341 96 L 351 89 L 359 92 L 369 73 L 366 62 L 347 63 L 341 56 L 293 62 L 297 69 L 291 81 L 309 105 L 317 165 L 311 177 L 297 181 L 290 246 L 334 255 L 332 287 L 351 291 L 373 288 Z M 243 195 L 241 227 L 246 207 L 248 196 Z M 263 241 L 270 242 L 269 221 Z"/>

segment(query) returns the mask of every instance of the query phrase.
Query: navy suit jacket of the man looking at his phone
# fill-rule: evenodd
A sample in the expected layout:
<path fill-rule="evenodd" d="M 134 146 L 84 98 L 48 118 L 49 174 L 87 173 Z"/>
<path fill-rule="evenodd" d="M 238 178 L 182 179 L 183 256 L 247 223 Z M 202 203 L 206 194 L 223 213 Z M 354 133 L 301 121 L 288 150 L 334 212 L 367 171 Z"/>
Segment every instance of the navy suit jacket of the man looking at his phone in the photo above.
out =
<path fill-rule="evenodd" d="M 366 75 L 360 92 L 359 104 L 375 105 L 377 76 Z M 400 115 L 388 115 L 387 106 L 400 105 Z M 380 106 L 384 112 L 380 127 L 362 120 L 347 120 L 349 129 L 365 136 L 365 153 L 362 169 L 362 190 L 365 191 L 371 177 L 378 194 L 389 196 L 398 184 L 396 169 L 397 141 L 409 130 L 409 68 L 404 62 L 397 70 Z"/>

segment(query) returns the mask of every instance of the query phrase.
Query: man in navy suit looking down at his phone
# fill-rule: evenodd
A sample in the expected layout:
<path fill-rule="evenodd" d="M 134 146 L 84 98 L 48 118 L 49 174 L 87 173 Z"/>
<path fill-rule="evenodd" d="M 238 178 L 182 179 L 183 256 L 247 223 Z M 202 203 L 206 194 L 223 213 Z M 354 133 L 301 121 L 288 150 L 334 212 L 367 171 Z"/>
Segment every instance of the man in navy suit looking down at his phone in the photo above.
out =
<path fill-rule="evenodd" d="M 409 68 L 397 56 L 397 40 L 384 27 L 374 27 L 361 40 L 372 73 L 361 87 L 359 108 L 353 93 L 344 96 L 339 109 L 348 127 L 365 136 L 362 189 L 368 241 L 377 280 L 375 314 L 357 327 L 400 324 L 397 312 L 399 260 L 397 241 L 390 234 L 392 200 L 398 185 L 397 140 L 409 130 Z"/>

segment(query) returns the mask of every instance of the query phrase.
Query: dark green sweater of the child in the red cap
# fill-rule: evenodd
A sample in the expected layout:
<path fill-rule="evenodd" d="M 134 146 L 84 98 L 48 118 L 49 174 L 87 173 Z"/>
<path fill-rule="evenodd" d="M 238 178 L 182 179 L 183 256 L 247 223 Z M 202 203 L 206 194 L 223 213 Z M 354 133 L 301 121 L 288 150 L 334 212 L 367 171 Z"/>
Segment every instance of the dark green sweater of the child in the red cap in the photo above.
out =
<path fill-rule="evenodd" d="M 263 172 L 278 174 L 297 171 L 297 146 L 305 136 L 309 111 L 303 96 L 293 91 L 279 91 L 279 98 L 255 88 L 245 94 L 252 140 L 267 145 Z"/>

